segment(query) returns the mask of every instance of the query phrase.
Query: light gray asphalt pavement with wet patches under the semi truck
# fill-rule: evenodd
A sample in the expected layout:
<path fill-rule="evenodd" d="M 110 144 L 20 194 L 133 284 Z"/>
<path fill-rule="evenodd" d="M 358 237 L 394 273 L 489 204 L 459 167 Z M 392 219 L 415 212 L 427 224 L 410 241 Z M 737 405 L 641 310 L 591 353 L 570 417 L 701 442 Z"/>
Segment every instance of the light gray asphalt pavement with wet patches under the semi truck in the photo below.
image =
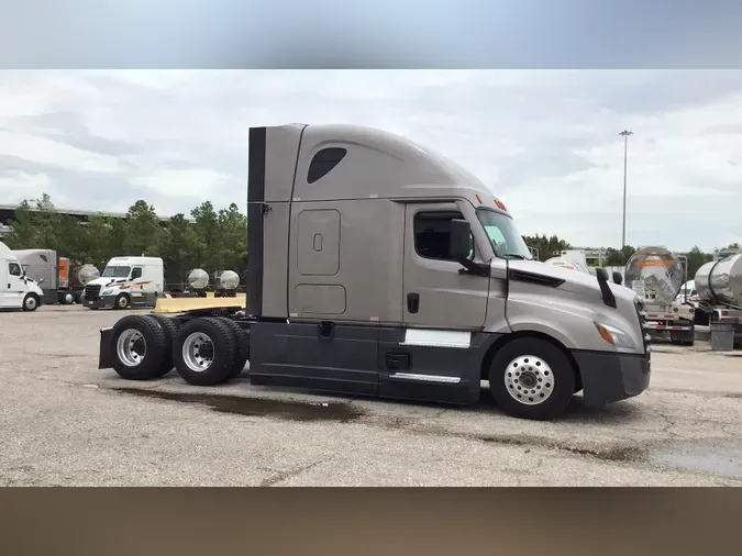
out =
<path fill-rule="evenodd" d="M 742 352 L 656 345 L 646 392 L 542 423 L 486 389 L 452 408 L 124 381 L 97 368 L 124 314 L 0 313 L 0 485 L 742 486 Z"/>

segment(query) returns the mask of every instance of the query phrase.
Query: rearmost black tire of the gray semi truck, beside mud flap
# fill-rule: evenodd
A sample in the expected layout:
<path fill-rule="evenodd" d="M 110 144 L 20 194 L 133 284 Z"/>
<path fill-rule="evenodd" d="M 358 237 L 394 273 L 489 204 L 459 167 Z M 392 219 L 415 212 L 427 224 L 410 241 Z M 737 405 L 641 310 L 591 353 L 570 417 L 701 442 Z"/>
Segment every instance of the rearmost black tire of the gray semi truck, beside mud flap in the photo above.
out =
<path fill-rule="evenodd" d="M 136 365 L 122 360 L 119 340 L 129 331 L 136 331 L 144 338 L 145 352 Z M 122 343 L 124 343 L 122 341 Z M 134 342 L 134 348 L 141 352 L 141 345 Z M 151 380 L 164 375 L 164 362 L 169 344 L 165 329 L 149 315 L 132 314 L 124 316 L 113 325 L 111 334 L 111 354 L 113 370 L 126 380 Z M 169 369 L 167 369 L 169 370 Z"/>

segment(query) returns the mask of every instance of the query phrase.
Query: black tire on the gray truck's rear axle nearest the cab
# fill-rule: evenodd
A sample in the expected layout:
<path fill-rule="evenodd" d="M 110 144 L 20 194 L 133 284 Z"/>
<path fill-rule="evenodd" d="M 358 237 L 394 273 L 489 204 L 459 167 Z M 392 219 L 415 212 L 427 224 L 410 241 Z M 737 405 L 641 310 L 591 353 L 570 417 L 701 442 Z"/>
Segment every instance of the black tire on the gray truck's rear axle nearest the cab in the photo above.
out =
<path fill-rule="evenodd" d="M 203 334 L 211 342 L 211 363 L 198 370 L 184 358 L 184 345 L 196 333 Z M 213 316 L 193 319 L 184 324 L 173 346 L 173 360 L 178 375 L 193 386 L 212 386 L 229 380 L 235 355 L 232 329 L 223 320 Z"/>

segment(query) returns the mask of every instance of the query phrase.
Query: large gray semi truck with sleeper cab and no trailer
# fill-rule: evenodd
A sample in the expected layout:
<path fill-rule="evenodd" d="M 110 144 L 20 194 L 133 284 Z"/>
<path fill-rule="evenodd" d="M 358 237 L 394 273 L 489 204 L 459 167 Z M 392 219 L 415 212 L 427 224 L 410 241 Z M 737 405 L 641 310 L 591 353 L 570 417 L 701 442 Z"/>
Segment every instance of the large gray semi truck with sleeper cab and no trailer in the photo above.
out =
<path fill-rule="evenodd" d="M 99 368 L 466 404 L 547 420 L 573 394 L 649 387 L 640 298 L 532 260 L 506 205 L 455 163 L 351 125 L 250 130 L 246 309 L 128 315 Z"/>

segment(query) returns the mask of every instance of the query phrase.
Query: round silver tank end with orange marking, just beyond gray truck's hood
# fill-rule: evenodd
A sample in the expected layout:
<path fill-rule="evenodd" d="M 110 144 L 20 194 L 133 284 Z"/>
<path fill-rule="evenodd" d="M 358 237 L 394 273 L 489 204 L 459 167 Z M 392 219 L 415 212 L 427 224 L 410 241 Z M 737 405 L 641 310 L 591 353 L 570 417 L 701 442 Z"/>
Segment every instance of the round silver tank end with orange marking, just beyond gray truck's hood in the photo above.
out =
<path fill-rule="evenodd" d="M 683 263 L 664 247 L 644 247 L 634 253 L 625 266 L 625 286 L 647 304 L 668 305 L 680 291 Z"/>

